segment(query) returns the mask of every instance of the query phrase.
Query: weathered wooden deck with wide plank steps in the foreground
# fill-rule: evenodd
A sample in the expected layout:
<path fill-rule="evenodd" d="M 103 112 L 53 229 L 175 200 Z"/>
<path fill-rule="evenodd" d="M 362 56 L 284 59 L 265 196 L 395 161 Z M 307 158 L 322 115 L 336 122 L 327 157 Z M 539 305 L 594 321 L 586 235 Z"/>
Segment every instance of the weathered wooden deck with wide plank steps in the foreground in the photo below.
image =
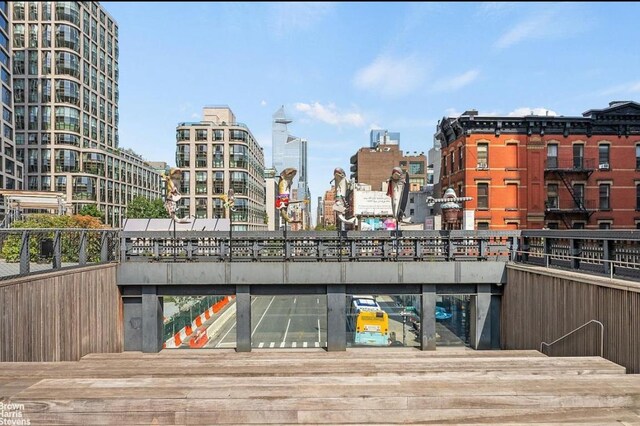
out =
<path fill-rule="evenodd" d="M 0 363 L 0 400 L 31 425 L 640 425 L 640 375 L 537 351 L 91 354 Z"/>

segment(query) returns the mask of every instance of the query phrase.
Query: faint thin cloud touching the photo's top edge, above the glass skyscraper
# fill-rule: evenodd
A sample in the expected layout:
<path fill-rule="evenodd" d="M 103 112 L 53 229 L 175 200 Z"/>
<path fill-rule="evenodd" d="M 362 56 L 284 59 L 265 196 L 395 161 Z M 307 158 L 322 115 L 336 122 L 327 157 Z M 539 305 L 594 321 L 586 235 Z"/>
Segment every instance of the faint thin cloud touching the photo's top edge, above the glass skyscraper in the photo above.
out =
<path fill-rule="evenodd" d="M 277 35 L 313 28 L 335 8 L 335 3 L 286 2 L 271 6 L 271 25 Z"/>

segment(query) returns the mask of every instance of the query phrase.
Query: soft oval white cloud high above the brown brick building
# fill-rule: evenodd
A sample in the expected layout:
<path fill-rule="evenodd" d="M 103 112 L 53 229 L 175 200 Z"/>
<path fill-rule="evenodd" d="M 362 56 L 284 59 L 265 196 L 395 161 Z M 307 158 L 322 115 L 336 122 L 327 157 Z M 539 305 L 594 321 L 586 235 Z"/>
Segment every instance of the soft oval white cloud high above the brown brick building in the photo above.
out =
<path fill-rule="evenodd" d="M 401 96 L 412 92 L 423 83 L 425 68 L 415 56 L 378 56 L 371 64 L 356 73 L 354 84 L 359 89 L 378 91 L 386 96 Z"/>

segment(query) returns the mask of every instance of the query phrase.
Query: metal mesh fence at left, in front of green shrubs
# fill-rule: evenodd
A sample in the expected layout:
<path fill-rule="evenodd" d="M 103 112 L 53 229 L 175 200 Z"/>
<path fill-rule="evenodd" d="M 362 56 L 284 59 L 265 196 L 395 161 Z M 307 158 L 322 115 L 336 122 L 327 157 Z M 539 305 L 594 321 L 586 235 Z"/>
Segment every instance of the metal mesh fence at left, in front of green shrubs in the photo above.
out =
<path fill-rule="evenodd" d="M 118 261 L 118 230 L 0 230 L 0 280 Z"/>

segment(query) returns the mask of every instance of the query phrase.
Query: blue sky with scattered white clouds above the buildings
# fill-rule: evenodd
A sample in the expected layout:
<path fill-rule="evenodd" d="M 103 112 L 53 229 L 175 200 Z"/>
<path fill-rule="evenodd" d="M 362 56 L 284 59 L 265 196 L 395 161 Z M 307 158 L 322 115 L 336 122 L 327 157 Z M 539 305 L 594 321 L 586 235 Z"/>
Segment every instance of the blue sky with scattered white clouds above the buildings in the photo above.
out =
<path fill-rule="evenodd" d="M 175 128 L 228 105 L 264 147 L 282 105 L 309 141 L 312 212 L 372 128 L 427 152 L 443 116 L 581 115 L 640 101 L 640 3 L 104 2 L 120 145 L 175 164 Z"/>

